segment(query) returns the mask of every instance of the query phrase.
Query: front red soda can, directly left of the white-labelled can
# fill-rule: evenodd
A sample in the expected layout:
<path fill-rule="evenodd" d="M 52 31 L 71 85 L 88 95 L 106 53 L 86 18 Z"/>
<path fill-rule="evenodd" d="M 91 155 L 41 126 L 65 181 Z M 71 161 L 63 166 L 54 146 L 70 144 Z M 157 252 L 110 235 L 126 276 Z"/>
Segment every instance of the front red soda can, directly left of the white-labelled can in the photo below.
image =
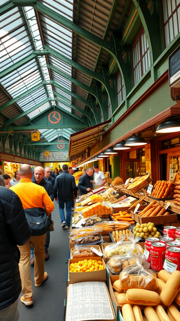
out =
<path fill-rule="evenodd" d="M 165 260 L 166 244 L 162 242 L 151 243 L 150 249 L 150 266 L 153 271 L 159 272 L 163 269 Z"/>

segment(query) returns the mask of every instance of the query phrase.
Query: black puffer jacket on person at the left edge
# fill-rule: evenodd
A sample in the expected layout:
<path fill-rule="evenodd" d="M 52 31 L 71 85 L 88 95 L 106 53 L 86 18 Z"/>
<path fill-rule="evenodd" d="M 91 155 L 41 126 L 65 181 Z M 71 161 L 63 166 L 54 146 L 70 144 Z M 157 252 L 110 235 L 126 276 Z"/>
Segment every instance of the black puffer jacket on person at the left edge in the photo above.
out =
<path fill-rule="evenodd" d="M 20 251 L 31 231 L 18 195 L 0 186 L 0 310 L 14 303 L 21 292 Z"/>

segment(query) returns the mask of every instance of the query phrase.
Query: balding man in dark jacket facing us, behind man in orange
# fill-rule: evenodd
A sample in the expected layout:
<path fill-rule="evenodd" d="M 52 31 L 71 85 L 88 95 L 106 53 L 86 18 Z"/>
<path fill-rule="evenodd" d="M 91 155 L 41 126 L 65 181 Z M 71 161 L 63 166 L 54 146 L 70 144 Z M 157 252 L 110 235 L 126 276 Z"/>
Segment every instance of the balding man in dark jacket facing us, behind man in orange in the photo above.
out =
<path fill-rule="evenodd" d="M 54 188 L 51 182 L 45 179 L 44 174 L 45 174 L 44 168 L 41 166 L 37 166 L 34 170 L 34 179 L 31 178 L 31 181 L 35 184 L 38 184 L 44 187 L 50 199 L 53 201 L 55 197 Z M 49 214 L 49 218 L 51 219 L 51 214 Z M 49 260 L 49 253 L 48 253 L 49 242 L 50 242 L 50 231 L 47 231 L 46 239 L 45 239 L 45 261 Z M 32 246 L 31 246 L 30 265 L 34 265 L 34 249 Z"/>

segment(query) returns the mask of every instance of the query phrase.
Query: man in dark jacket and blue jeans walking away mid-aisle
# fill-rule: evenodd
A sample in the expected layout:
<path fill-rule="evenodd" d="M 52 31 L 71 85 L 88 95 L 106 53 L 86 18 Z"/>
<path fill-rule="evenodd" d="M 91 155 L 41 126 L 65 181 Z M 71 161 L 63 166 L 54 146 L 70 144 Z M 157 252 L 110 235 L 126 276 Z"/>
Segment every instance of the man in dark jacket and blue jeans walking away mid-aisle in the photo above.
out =
<path fill-rule="evenodd" d="M 77 188 L 74 176 L 68 172 L 68 165 L 62 166 L 62 173 L 55 179 L 54 192 L 55 200 L 58 200 L 59 214 L 61 218 L 62 228 L 70 228 L 71 205 L 72 200 L 77 197 Z M 57 197 L 58 192 L 58 197 Z M 74 196 L 73 196 L 74 193 Z M 64 215 L 64 204 L 66 204 L 66 219 Z"/>

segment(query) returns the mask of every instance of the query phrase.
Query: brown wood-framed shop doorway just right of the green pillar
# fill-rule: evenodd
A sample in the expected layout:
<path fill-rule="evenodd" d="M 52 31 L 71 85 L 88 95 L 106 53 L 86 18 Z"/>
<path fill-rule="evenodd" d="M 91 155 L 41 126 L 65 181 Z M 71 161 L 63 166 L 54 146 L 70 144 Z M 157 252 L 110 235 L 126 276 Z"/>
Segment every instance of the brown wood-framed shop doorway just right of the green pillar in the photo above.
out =
<path fill-rule="evenodd" d="M 135 178 L 141 175 L 140 159 L 138 158 L 125 158 L 122 160 L 123 165 L 123 180 L 124 182 L 128 178 Z"/>

